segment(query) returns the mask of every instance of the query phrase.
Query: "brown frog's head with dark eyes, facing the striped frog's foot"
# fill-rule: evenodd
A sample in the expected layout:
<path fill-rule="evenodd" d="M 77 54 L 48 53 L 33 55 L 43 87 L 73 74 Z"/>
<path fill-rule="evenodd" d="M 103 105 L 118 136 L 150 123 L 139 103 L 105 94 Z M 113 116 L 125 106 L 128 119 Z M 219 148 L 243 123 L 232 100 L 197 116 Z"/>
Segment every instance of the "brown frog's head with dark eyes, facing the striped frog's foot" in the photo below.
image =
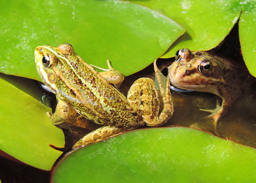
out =
<path fill-rule="evenodd" d="M 173 86 L 216 94 L 217 88 L 225 83 L 222 64 L 211 54 L 184 48 L 177 51 L 175 58 L 169 69 Z"/>

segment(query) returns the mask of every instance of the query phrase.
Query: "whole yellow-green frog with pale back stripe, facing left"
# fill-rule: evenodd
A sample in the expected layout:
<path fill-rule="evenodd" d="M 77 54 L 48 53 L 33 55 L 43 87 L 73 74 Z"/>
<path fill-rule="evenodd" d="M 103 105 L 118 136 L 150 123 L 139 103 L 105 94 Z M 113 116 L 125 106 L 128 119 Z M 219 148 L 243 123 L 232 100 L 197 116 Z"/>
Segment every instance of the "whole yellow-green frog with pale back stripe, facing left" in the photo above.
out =
<path fill-rule="evenodd" d="M 34 57 L 44 85 L 57 98 L 55 112 L 47 113 L 52 124 L 65 123 L 73 108 L 87 119 L 105 125 L 80 139 L 73 148 L 143 125 L 160 126 L 172 115 L 169 78 L 162 80 L 156 61 L 154 69 L 161 96 L 154 81 L 143 77 L 134 82 L 126 98 L 110 84 L 122 82 L 123 76 L 109 61 L 109 69 L 99 73 L 80 58 L 70 44 L 38 46 Z M 164 108 L 159 114 L 160 98 Z"/>

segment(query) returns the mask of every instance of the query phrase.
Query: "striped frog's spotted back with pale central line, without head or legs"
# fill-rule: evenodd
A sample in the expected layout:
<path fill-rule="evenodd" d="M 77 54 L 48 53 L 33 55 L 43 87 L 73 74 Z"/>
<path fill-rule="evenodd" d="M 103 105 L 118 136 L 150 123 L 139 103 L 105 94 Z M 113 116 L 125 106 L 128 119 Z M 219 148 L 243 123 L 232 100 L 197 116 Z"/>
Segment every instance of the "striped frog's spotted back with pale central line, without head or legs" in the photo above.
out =
<path fill-rule="evenodd" d="M 61 98 L 77 112 L 99 124 L 136 125 L 138 119 L 126 98 L 89 64 L 76 55 L 70 64 L 56 66 Z M 58 68 L 59 67 L 59 68 Z M 69 86 L 68 86 L 69 84 Z M 62 87 L 63 86 L 63 87 Z M 68 86 L 68 87 L 66 87 Z"/>

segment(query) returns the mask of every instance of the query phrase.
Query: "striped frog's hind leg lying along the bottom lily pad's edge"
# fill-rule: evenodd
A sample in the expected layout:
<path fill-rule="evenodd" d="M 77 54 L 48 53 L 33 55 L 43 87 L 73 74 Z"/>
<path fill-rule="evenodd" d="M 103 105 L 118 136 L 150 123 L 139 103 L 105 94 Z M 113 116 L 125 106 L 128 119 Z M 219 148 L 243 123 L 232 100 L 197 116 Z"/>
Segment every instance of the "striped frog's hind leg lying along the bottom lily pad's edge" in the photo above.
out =
<path fill-rule="evenodd" d="M 73 146 L 73 149 L 78 148 L 80 146 L 86 146 L 91 143 L 96 143 L 98 141 L 116 136 L 128 130 L 136 129 L 138 127 L 139 126 L 117 128 L 114 126 L 102 126 L 92 131 L 91 133 L 87 134 L 82 139 L 78 140 Z"/>

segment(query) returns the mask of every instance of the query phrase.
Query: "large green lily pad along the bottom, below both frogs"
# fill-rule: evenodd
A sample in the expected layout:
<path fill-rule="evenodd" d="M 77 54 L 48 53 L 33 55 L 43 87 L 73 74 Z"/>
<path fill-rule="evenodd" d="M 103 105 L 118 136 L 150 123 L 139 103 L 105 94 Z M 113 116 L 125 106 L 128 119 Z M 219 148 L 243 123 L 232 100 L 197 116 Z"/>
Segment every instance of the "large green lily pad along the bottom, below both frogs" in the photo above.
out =
<path fill-rule="evenodd" d="M 147 128 L 67 154 L 53 182 L 254 182 L 256 150 L 192 128 Z"/>

